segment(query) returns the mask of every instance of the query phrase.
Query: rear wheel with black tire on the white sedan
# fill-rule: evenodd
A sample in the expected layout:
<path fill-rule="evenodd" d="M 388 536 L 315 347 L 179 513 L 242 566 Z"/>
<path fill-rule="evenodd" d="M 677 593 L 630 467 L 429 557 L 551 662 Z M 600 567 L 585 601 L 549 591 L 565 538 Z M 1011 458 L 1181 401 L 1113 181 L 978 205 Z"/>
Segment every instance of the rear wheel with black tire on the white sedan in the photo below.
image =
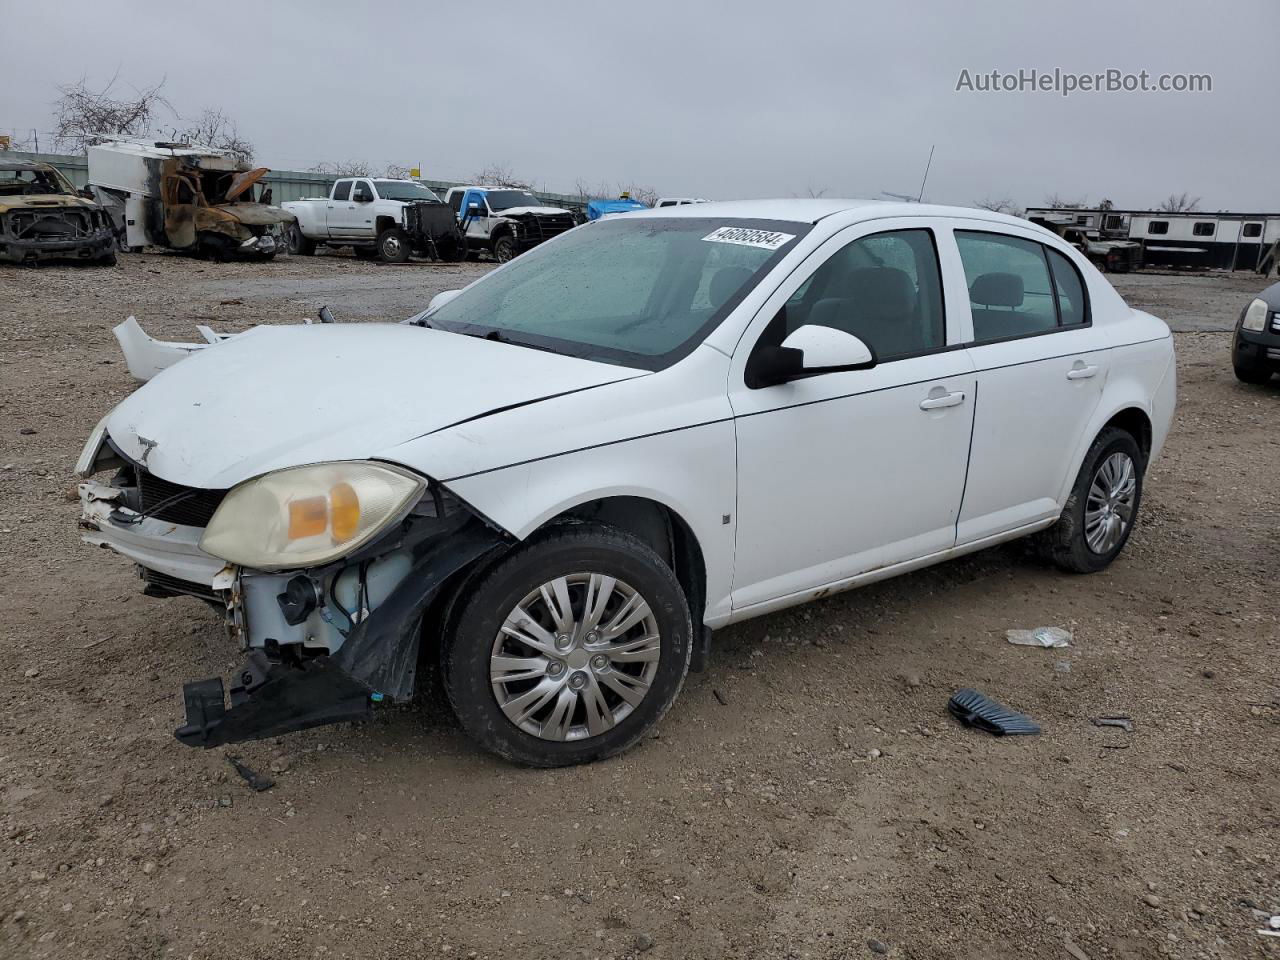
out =
<path fill-rule="evenodd" d="M 1128 480 L 1119 486 L 1130 490 L 1128 497 L 1110 495 L 1101 500 L 1096 499 L 1098 492 L 1114 493 L 1110 477 L 1120 480 L 1123 472 L 1117 475 L 1114 467 L 1123 465 L 1124 461 L 1128 461 L 1130 472 Z M 1129 541 L 1129 534 L 1138 521 L 1146 468 L 1142 451 L 1130 433 L 1114 426 L 1100 433 L 1089 452 L 1084 454 L 1084 463 L 1080 465 L 1071 494 L 1066 498 L 1062 516 L 1057 524 L 1039 535 L 1044 556 L 1071 573 L 1096 573 L 1110 566 Z M 1091 507 L 1091 504 L 1100 506 Z M 1087 517 L 1087 515 L 1093 516 Z M 1098 517 L 1102 527 L 1097 526 Z M 1117 518 L 1119 529 L 1114 530 L 1116 521 L 1111 517 Z M 1098 538 L 1100 530 L 1106 535 Z"/>

